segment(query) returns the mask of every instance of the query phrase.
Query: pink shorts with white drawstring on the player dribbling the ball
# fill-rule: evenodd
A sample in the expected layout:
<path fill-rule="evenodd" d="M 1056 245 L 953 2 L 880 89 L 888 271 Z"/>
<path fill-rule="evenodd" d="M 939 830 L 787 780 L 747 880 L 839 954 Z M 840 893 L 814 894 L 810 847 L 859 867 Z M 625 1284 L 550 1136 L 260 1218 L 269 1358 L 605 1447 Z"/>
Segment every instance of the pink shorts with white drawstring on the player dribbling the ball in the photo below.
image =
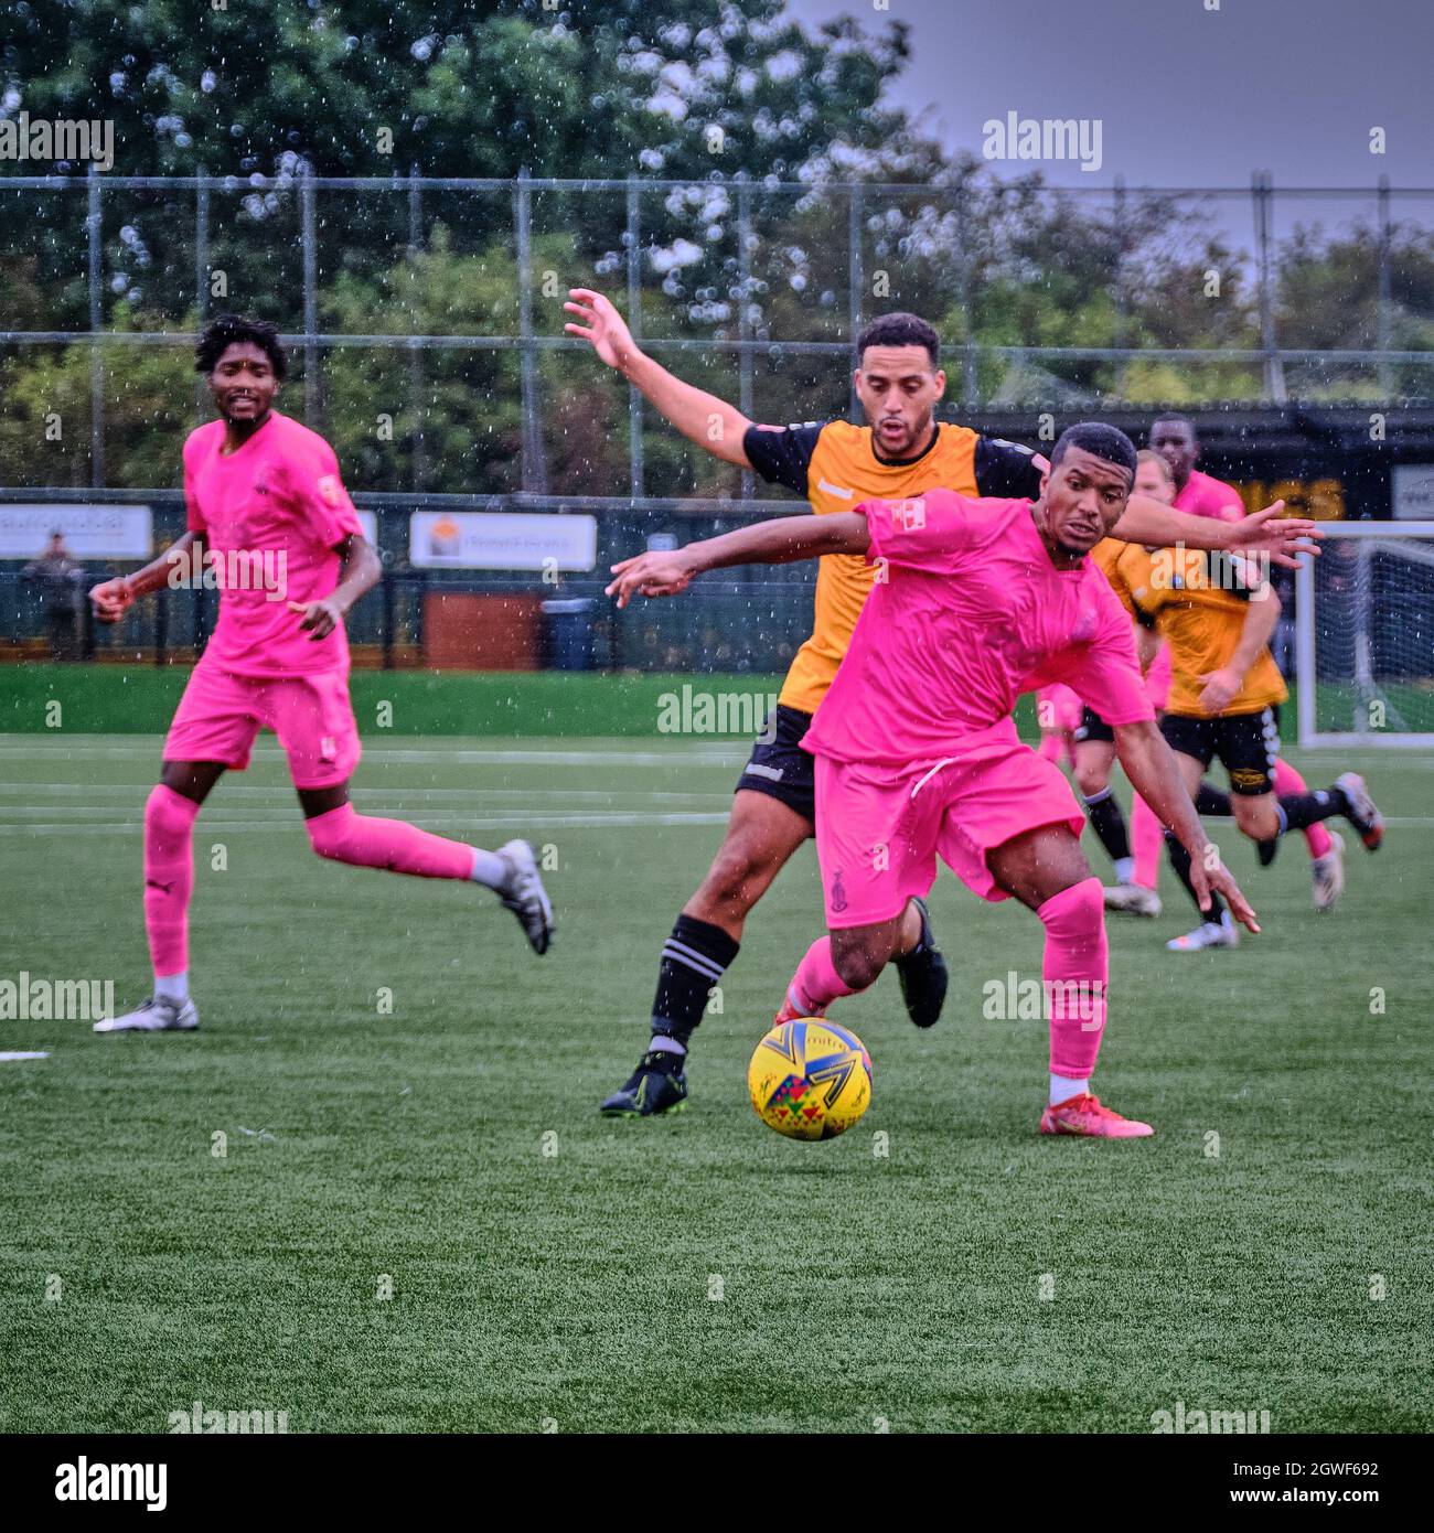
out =
<path fill-rule="evenodd" d="M 1043 825 L 1080 835 L 1086 817 L 1060 768 L 1023 745 L 1009 721 L 965 740 L 960 756 L 909 766 L 817 756 L 827 929 L 891 920 L 931 889 L 937 857 L 972 894 L 1006 900 L 986 855 Z"/>

